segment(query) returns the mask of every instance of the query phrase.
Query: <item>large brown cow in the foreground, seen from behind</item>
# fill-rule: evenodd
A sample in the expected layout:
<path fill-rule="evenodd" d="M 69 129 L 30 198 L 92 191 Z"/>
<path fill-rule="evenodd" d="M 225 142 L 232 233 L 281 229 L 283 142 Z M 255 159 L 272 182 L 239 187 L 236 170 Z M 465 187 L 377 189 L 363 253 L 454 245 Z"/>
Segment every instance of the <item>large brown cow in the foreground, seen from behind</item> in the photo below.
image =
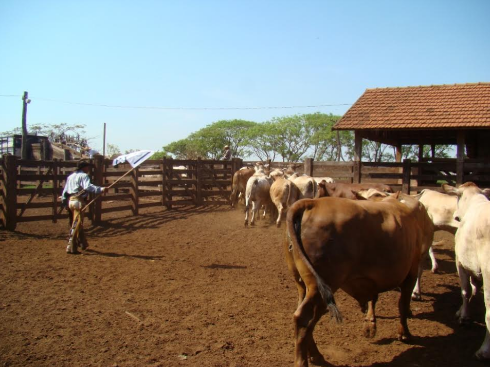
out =
<path fill-rule="evenodd" d="M 295 366 L 323 356 L 313 329 L 329 311 L 341 319 L 334 300 L 337 289 L 366 305 L 365 335 L 374 337 L 378 294 L 400 286 L 398 338 L 410 337 L 407 317 L 418 275 L 424 237 L 418 222 L 421 205 L 411 197 L 380 202 L 321 198 L 299 200 L 289 208 L 284 249 L 298 288 L 294 313 Z"/>

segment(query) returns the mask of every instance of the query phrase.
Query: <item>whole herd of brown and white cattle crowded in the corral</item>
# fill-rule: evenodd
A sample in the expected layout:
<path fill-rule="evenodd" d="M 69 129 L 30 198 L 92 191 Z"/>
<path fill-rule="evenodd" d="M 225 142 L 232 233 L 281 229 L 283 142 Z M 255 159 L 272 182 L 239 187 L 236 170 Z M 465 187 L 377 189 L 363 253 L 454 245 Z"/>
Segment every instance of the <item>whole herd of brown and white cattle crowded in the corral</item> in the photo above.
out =
<path fill-rule="evenodd" d="M 251 225 L 261 208 L 264 217 L 277 208 L 278 226 L 287 213 L 284 250 L 298 290 L 296 367 L 324 362 L 313 330 L 327 312 L 341 320 L 337 289 L 359 302 L 366 315 L 364 335 L 372 338 L 378 294 L 399 288 L 398 339 L 408 340 L 410 300 L 422 297 L 423 259 L 430 256 L 432 272 L 438 269 L 432 252 L 437 230 L 456 234 L 460 323 L 468 322 L 468 302 L 483 286 L 487 331 L 476 357 L 490 359 L 490 189 L 471 182 L 459 188 L 444 184 L 446 194 L 425 189 L 410 196 L 387 185 L 335 183 L 294 169 L 268 170 L 260 163 L 240 169 L 233 176 L 231 201 L 233 206 L 245 201 L 246 226 L 250 204 Z"/>

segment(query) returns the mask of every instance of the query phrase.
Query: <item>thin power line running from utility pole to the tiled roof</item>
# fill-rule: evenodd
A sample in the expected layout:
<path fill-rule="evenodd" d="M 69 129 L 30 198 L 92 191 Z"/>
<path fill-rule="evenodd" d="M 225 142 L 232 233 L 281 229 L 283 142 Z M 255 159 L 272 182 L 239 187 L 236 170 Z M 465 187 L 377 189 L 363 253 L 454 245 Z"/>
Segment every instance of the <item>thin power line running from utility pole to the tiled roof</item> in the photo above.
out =
<path fill-rule="evenodd" d="M 0 94 L 3 97 L 17 97 L 21 95 L 5 95 Z M 72 102 L 61 101 L 51 98 L 31 97 L 31 100 L 39 100 L 46 102 L 64 103 L 71 105 L 81 106 L 93 106 L 93 107 L 107 107 L 107 108 L 125 108 L 125 109 L 154 109 L 154 110 L 193 110 L 193 111 L 206 111 L 206 110 L 261 110 L 261 109 L 287 109 L 287 108 L 317 108 L 317 107 L 334 107 L 334 106 L 350 106 L 352 103 L 337 103 L 337 104 L 322 104 L 322 105 L 307 105 L 307 106 L 262 106 L 262 107 L 158 107 L 158 106 L 123 106 L 123 105 L 109 105 L 99 103 L 85 103 L 85 102 Z"/>

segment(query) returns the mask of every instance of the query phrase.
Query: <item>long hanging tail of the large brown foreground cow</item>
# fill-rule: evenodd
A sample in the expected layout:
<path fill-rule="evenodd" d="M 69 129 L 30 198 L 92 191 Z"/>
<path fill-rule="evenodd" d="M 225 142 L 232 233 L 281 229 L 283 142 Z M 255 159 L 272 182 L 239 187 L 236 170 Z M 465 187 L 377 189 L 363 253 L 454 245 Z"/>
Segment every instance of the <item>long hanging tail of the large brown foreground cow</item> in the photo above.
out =
<path fill-rule="evenodd" d="M 308 259 L 303 243 L 301 241 L 301 220 L 303 218 L 303 213 L 307 208 L 309 200 L 301 201 L 300 205 L 296 204 L 287 213 L 286 225 L 287 234 L 292 242 L 292 246 L 296 249 L 296 253 L 299 255 L 301 261 L 306 265 L 308 270 L 316 279 L 318 292 L 325 303 L 326 308 L 330 312 L 331 317 L 333 317 L 337 322 L 342 321 L 342 315 L 337 308 L 335 303 L 335 298 L 332 289 L 328 284 L 325 283 L 323 279 L 318 275 L 315 268 L 313 267 L 310 259 Z M 298 203 L 298 202 L 297 202 Z"/>

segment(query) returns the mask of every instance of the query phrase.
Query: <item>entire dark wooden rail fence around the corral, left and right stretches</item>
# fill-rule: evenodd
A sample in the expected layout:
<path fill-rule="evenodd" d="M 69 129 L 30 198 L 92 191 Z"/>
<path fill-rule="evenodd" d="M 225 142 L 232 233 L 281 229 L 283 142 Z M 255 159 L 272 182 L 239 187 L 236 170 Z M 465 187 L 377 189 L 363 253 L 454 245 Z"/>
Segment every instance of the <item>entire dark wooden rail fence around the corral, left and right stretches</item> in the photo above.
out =
<path fill-rule="evenodd" d="M 96 156 L 90 171 L 92 182 L 107 186 L 131 169 L 127 164 L 113 167 L 112 161 Z M 267 162 L 271 168 L 285 168 L 291 163 Z M 87 216 L 94 223 L 102 215 L 130 210 L 176 205 L 229 205 L 233 173 L 246 164 L 232 161 L 148 160 L 124 177 L 97 200 Z M 16 223 L 65 218 L 59 197 L 66 177 L 76 161 L 24 161 L 4 156 L 0 161 L 0 224 L 15 229 Z M 490 185 L 490 164 L 477 161 L 440 160 L 437 162 L 296 162 L 296 171 L 313 177 L 331 177 L 337 182 L 386 183 L 394 190 L 420 192 L 424 188 L 440 189 L 441 182 L 459 185 L 473 181 Z M 33 210 L 35 213 L 33 213 Z"/>

